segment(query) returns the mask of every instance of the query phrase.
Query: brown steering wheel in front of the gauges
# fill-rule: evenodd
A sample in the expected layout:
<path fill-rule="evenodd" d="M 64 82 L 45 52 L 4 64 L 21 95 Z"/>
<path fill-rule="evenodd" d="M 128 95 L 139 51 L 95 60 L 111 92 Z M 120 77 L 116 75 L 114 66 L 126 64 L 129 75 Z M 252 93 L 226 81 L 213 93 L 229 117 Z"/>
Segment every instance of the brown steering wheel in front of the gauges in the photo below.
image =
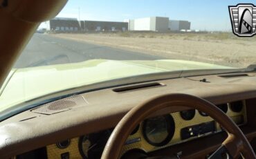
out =
<path fill-rule="evenodd" d="M 131 111 L 120 120 L 111 133 L 111 136 L 104 147 L 102 158 L 119 158 L 122 146 L 125 144 L 129 134 L 133 131 L 136 125 L 158 110 L 168 107 L 174 109 L 176 106 L 187 106 L 191 109 L 203 111 L 210 115 L 215 121 L 219 122 L 221 127 L 227 131 L 228 138 L 222 142 L 221 147 L 219 147 L 217 151 L 212 153 L 210 158 L 221 158 L 223 154 L 228 154 L 228 156 L 232 158 L 237 158 L 240 154 L 242 154 L 244 158 L 256 158 L 246 136 L 242 133 L 239 127 L 237 127 L 235 122 L 214 104 L 203 100 L 200 97 L 186 94 L 163 95 L 131 109 Z"/>

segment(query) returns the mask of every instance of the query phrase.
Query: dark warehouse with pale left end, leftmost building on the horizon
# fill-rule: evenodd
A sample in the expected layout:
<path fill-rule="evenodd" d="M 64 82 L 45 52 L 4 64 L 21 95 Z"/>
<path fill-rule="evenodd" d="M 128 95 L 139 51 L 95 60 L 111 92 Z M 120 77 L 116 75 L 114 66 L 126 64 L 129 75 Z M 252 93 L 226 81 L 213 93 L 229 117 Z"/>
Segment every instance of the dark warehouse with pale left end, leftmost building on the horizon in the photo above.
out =
<path fill-rule="evenodd" d="M 46 30 L 56 30 L 62 32 L 73 32 L 80 30 L 80 23 L 76 18 L 59 18 L 51 19 L 46 22 Z"/>

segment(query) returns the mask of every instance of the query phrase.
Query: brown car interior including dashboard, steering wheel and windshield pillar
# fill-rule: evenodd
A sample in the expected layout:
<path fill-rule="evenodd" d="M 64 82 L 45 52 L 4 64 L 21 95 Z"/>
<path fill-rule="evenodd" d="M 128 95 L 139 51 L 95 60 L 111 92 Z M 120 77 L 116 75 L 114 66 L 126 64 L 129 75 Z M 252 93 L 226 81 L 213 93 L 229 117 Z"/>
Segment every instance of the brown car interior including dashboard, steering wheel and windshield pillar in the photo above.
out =
<path fill-rule="evenodd" d="M 65 4 L 0 1 L 0 85 L 39 24 Z M 253 69 L 111 84 L 48 94 L 9 111 L 0 122 L 0 158 L 256 158 Z"/>

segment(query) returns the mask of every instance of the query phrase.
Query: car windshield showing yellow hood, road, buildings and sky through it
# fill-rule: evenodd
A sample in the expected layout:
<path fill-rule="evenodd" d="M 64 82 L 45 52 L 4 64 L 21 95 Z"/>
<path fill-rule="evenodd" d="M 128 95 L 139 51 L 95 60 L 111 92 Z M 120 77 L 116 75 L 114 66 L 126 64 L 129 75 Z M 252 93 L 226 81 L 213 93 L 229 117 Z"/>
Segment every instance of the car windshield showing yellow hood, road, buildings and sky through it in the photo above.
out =
<path fill-rule="evenodd" d="M 135 82 L 141 75 L 255 64 L 255 37 L 234 32 L 253 35 L 256 9 L 251 9 L 252 23 L 244 20 L 237 28 L 239 9 L 230 13 L 228 6 L 238 3 L 68 1 L 57 17 L 39 25 L 17 59 L 0 90 L 0 111 L 113 79 L 133 77 Z"/>

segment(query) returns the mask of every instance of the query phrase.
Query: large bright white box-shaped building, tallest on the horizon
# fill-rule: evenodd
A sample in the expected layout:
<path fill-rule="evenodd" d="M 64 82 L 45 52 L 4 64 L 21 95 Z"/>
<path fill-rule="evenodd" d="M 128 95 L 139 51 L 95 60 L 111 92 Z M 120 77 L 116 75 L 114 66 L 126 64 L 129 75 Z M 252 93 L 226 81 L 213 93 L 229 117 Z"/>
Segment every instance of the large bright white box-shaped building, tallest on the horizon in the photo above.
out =
<path fill-rule="evenodd" d="M 129 20 L 128 29 L 138 31 L 165 32 L 169 30 L 168 17 L 146 17 Z"/>

